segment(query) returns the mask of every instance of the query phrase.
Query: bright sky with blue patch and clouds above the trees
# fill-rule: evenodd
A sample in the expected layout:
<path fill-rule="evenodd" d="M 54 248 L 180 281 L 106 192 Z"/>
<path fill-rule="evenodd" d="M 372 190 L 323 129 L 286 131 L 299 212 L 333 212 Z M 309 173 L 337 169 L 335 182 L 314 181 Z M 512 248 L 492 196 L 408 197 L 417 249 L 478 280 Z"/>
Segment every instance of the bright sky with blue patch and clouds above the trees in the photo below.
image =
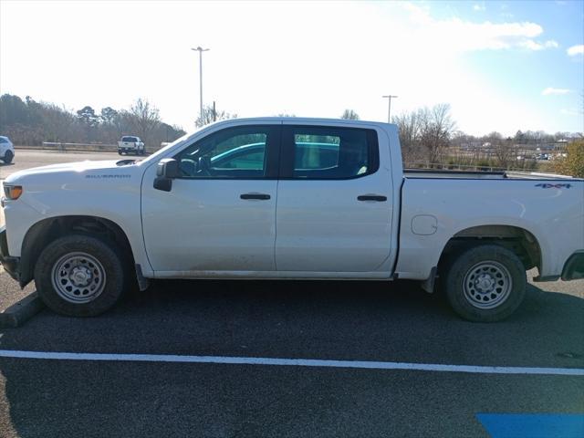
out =
<path fill-rule="evenodd" d="M 31 14 L 34 11 L 34 14 Z M 50 19 L 47 19 L 50 17 Z M 193 129 L 242 117 L 450 103 L 458 128 L 583 131 L 584 3 L 0 2 L 0 92 L 78 110 L 150 99 Z"/>

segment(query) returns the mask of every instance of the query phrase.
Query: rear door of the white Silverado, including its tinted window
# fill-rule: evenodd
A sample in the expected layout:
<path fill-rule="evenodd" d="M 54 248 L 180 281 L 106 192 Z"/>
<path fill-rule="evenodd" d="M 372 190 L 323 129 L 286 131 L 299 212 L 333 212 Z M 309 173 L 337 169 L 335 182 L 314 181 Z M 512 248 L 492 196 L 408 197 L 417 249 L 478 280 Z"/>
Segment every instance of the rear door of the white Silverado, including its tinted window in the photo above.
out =
<path fill-rule="evenodd" d="M 388 258 L 393 200 L 383 144 L 387 151 L 374 129 L 285 122 L 278 271 L 370 272 Z"/>

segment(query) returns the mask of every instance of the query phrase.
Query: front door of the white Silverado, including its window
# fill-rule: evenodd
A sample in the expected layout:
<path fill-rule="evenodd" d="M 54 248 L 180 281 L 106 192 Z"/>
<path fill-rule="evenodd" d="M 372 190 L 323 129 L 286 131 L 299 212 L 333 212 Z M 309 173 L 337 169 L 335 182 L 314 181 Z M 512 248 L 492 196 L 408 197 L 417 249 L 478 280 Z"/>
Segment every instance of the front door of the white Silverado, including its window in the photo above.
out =
<path fill-rule="evenodd" d="M 276 187 L 280 125 L 215 131 L 174 158 L 172 190 L 142 183 L 148 258 L 161 276 L 276 269 Z"/>

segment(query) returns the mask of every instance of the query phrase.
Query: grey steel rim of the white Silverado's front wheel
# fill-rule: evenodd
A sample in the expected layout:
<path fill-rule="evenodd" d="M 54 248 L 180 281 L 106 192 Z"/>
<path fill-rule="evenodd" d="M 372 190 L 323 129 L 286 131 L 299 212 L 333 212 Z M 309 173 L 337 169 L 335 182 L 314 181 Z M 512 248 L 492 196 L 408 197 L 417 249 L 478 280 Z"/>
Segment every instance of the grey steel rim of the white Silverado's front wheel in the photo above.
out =
<path fill-rule="evenodd" d="M 106 271 L 87 253 L 68 253 L 53 265 L 53 288 L 69 303 L 84 304 L 99 297 L 106 286 Z"/>

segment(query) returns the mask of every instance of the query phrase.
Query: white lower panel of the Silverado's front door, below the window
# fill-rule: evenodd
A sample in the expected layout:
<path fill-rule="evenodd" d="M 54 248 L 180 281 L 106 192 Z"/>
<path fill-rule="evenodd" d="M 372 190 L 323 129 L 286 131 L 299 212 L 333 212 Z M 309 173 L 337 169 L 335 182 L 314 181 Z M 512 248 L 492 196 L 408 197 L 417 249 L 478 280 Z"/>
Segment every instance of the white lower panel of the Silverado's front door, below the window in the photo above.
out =
<path fill-rule="evenodd" d="M 147 181 L 155 171 L 146 172 Z M 144 184 L 142 222 L 152 268 L 275 270 L 276 190 L 276 181 L 181 180 L 172 193 Z M 240 193 L 268 193 L 271 199 L 245 201 Z"/>

